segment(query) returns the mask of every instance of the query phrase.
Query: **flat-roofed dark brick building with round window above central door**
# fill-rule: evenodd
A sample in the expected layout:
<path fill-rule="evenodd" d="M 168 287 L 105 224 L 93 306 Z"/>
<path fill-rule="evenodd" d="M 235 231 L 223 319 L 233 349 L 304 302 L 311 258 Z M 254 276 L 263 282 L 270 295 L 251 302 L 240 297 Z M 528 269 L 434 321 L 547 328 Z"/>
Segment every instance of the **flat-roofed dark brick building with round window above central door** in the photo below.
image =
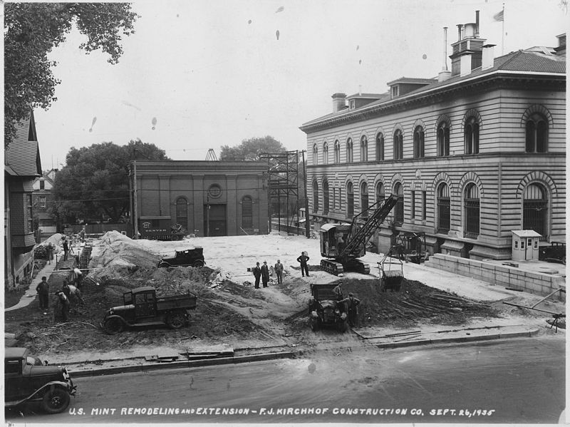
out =
<path fill-rule="evenodd" d="M 131 165 L 138 230 L 180 224 L 198 236 L 267 234 L 267 164 L 137 160 Z"/>

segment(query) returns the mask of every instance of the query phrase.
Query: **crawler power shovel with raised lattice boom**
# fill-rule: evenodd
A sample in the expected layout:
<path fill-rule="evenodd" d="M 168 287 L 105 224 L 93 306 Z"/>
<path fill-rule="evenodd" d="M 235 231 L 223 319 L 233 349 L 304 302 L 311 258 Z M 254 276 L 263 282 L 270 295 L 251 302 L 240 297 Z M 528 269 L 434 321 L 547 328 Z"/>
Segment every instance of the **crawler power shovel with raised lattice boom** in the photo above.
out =
<path fill-rule="evenodd" d="M 353 217 L 350 224 L 325 224 L 321 227 L 321 270 L 335 274 L 354 271 L 370 273 L 370 266 L 358 259 L 366 254 L 366 244 L 401 196 L 390 195 Z"/>

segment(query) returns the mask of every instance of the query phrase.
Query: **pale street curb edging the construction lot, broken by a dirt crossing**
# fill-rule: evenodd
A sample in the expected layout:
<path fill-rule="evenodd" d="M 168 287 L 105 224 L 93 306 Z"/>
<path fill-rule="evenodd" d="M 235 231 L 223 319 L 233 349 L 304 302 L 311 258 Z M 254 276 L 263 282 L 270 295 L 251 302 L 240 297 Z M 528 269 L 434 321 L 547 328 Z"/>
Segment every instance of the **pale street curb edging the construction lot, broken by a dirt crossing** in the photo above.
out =
<path fill-rule="evenodd" d="M 474 341 L 491 341 L 494 339 L 507 339 L 518 336 L 534 336 L 537 335 L 538 333 L 539 329 L 537 328 L 537 329 L 532 329 L 531 331 L 509 332 L 507 334 L 459 336 L 456 338 L 418 339 L 416 341 L 373 344 L 373 346 L 378 347 L 378 349 L 395 349 L 399 347 L 422 346 L 427 344 L 449 344 L 453 342 L 463 343 L 463 342 L 474 342 Z M 140 364 L 140 365 L 130 365 L 130 366 L 113 366 L 110 368 L 84 369 L 79 371 L 70 370 L 69 373 L 72 375 L 73 378 L 83 378 L 87 376 L 126 374 L 129 372 L 139 372 L 139 371 L 155 371 L 158 369 L 197 368 L 200 366 L 242 364 L 252 361 L 293 359 L 294 357 L 304 356 L 308 352 L 309 351 L 307 351 L 306 349 L 299 349 L 296 351 L 280 351 L 278 353 L 261 353 L 261 354 L 249 354 L 247 356 L 220 357 L 219 359 L 202 359 L 202 360 L 192 360 L 192 361 L 165 362 L 158 364 L 155 363 L 155 364 Z"/>

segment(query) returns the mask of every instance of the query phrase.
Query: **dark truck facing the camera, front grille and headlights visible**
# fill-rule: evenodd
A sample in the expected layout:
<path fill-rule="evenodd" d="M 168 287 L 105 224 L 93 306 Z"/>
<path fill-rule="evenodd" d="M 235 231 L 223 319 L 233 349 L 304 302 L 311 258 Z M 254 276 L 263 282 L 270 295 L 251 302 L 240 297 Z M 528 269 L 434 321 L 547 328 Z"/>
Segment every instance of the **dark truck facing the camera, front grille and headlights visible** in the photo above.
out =
<path fill-rule="evenodd" d="M 348 314 L 341 288 L 338 284 L 311 284 L 309 299 L 309 323 L 311 329 L 317 331 L 321 327 L 336 327 L 338 331 L 348 329 Z"/>

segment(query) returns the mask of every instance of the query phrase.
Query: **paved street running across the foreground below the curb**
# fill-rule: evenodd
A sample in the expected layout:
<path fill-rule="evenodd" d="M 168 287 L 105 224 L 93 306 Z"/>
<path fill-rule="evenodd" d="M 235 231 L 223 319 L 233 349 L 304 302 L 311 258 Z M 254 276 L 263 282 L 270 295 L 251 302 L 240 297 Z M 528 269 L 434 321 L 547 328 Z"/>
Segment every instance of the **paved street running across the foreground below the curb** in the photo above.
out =
<path fill-rule="evenodd" d="M 539 336 L 80 378 L 66 413 L 6 418 L 27 425 L 556 423 L 564 346 L 563 336 Z"/>

